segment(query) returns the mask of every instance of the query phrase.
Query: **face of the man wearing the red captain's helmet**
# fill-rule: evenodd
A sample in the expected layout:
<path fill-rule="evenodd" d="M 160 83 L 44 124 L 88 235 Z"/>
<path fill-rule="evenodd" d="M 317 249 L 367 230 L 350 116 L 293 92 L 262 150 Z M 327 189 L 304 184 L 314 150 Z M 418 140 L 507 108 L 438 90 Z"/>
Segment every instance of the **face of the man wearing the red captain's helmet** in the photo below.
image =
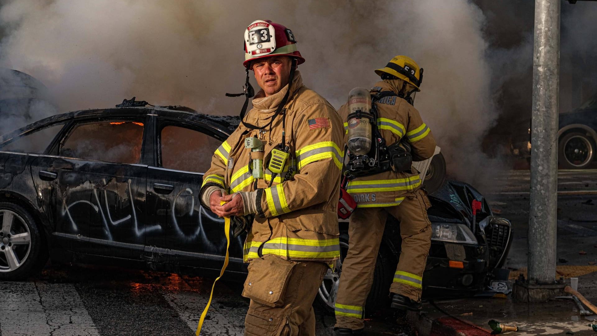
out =
<path fill-rule="evenodd" d="M 272 56 L 256 60 L 253 72 L 260 88 L 266 96 L 278 93 L 288 84 L 292 61 L 288 56 Z"/>

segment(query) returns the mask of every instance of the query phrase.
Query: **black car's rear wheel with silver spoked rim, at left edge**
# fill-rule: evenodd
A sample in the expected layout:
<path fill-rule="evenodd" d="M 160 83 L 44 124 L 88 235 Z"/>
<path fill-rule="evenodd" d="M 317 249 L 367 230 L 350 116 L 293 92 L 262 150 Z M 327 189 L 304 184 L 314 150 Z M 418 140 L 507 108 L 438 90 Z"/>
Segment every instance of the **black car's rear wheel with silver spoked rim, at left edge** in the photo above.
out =
<path fill-rule="evenodd" d="M 47 245 L 31 213 L 19 204 L 0 202 L 0 280 L 27 279 L 47 261 Z"/>

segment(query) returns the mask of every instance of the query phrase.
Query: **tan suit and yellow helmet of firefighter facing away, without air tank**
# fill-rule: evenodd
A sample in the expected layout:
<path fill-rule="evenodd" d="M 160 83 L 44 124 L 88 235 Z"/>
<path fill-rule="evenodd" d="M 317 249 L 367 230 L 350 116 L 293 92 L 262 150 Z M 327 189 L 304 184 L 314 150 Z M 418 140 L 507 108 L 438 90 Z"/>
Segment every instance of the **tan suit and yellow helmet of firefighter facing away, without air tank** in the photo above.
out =
<path fill-rule="evenodd" d="M 377 69 L 376 74 L 380 75 L 381 81 L 370 93 L 378 97 L 377 102 L 373 100 L 373 105 L 377 106 L 377 129 L 381 138 L 388 148 L 402 140 L 411 147 L 413 160 L 432 157 L 435 140 L 413 107 L 410 96 L 419 91 L 423 69 L 408 57 L 396 56 L 384 68 Z M 349 110 L 349 105 L 338 111 L 346 121 L 345 140 L 349 127 L 356 124 L 347 121 L 353 112 Z M 420 188 L 419 173 L 410 163 L 408 161 L 406 171 L 390 169 L 352 179 L 347 184 L 346 191 L 356 201 L 357 208 L 350 217 L 349 249 L 342 265 L 336 300 L 335 329 L 338 335 L 358 335 L 364 328 L 365 301 L 373 283 L 377 253 L 388 215 L 398 219 L 402 236 L 400 260 L 390 286 L 392 307 L 420 310 L 422 276 L 432 232 L 427 218 L 429 199 Z"/>

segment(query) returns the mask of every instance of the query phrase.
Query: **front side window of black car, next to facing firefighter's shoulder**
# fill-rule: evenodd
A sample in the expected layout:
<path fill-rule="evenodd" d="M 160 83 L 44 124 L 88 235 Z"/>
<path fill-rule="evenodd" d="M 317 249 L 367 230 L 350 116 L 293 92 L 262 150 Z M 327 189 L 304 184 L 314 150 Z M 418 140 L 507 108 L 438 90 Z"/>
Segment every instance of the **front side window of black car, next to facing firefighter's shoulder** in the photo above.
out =
<path fill-rule="evenodd" d="M 205 173 L 221 141 L 197 130 L 165 126 L 160 132 L 162 167 Z"/>

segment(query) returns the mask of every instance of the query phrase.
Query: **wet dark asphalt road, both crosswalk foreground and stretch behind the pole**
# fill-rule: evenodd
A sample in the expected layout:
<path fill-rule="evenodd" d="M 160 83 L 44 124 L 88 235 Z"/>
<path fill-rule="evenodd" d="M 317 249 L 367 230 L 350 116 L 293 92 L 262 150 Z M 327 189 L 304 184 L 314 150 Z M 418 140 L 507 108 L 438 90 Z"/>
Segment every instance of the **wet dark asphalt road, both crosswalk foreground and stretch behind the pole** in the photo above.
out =
<path fill-rule="evenodd" d="M 561 172 L 559 190 L 597 190 L 597 170 Z M 491 207 L 513 224 L 506 266 L 526 267 L 528 171 L 498 176 Z M 566 183 L 562 183 L 566 182 Z M 559 264 L 597 261 L 597 193 L 558 197 Z M 584 251 L 586 254 L 579 254 Z M 194 335 L 213 278 L 123 268 L 50 265 L 37 279 L 0 282 L 0 336 Z M 221 282 L 202 335 L 242 335 L 248 301 L 242 283 Z M 367 335 L 401 335 L 401 315 L 380 312 Z M 333 335 L 334 317 L 316 313 L 317 335 Z"/>

